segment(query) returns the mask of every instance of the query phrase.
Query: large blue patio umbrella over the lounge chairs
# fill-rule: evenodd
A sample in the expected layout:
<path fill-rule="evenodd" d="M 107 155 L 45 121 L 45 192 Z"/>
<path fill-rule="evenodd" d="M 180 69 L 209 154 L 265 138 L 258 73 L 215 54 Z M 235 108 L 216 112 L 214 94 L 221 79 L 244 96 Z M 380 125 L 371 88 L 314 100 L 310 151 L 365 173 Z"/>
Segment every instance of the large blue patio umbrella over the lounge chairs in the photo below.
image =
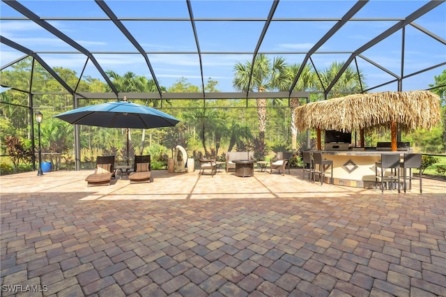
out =
<path fill-rule="evenodd" d="M 55 116 L 68 123 L 105 128 L 161 128 L 176 125 L 180 120 L 152 107 L 133 102 L 114 101 L 79 107 Z M 127 160 L 129 139 L 127 133 Z"/>

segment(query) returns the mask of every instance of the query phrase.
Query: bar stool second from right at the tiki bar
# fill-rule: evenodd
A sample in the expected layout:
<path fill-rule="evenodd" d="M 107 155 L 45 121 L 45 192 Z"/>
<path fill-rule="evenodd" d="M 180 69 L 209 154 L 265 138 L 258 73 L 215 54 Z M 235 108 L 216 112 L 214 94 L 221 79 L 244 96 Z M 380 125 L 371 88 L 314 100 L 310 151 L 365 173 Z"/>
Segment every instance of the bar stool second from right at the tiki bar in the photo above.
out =
<path fill-rule="evenodd" d="M 378 179 L 381 181 L 381 192 L 384 192 L 384 182 L 389 183 L 390 189 L 393 189 L 394 183 L 398 183 L 399 187 L 399 153 L 382 153 L 381 162 L 375 163 L 375 190 L 378 184 Z M 381 169 L 380 175 L 378 175 L 378 168 Z M 390 169 L 390 175 L 386 176 L 386 169 Z"/>

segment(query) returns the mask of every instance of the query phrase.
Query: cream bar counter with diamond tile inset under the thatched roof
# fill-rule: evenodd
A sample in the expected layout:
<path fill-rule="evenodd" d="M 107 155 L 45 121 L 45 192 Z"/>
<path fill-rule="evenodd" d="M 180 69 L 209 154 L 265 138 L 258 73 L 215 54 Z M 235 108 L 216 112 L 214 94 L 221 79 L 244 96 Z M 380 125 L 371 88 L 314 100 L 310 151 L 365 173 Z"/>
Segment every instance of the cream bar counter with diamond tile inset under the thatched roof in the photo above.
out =
<path fill-rule="evenodd" d="M 383 153 L 404 153 L 410 151 L 321 151 L 323 158 L 333 161 L 334 185 L 355 188 L 375 188 L 375 162 L 380 162 Z M 330 169 L 325 175 L 330 183 Z"/>

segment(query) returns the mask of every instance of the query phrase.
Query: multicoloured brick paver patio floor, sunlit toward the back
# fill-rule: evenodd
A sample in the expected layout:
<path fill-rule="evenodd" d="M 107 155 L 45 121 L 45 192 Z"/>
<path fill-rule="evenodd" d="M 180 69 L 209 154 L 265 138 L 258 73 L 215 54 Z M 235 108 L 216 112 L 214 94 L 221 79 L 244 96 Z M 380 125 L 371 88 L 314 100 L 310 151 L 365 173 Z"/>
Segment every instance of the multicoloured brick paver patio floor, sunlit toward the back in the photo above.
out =
<path fill-rule="evenodd" d="M 89 173 L 1 176 L 1 296 L 446 296 L 445 182 Z"/>

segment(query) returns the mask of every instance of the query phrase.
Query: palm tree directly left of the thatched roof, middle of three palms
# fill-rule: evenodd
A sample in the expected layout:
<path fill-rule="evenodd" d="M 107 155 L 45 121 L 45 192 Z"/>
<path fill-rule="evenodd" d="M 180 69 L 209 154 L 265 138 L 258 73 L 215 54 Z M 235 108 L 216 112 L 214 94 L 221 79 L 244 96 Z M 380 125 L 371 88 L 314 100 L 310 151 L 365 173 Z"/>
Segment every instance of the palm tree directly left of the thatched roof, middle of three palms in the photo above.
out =
<path fill-rule="evenodd" d="M 289 89 L 291 86 L 293 79 L 298 74 L 300 69 L 300 64 L 293 64 L 286 68 L 286 71 L 289 73 L 289 86 L 286 89 Z M 312 66 L 309 64 L 305 65 L 300 73 L 300 77 L 298 79 L 298 84 L 295 85 L 293 91 L 309 91 L 313 88 L 315 83 L 314 72 L 312 71 Z M 284 91 L 284 90 L 281 90 Z M 300 101 L 299 98 L 290 98 L 290 111 L 291 111 L 291 147 L 293 151 L 297 150 L 297 139 L 298 139 L 298 128 L 295 125 L 295 109 L 299 107 Z"/>

